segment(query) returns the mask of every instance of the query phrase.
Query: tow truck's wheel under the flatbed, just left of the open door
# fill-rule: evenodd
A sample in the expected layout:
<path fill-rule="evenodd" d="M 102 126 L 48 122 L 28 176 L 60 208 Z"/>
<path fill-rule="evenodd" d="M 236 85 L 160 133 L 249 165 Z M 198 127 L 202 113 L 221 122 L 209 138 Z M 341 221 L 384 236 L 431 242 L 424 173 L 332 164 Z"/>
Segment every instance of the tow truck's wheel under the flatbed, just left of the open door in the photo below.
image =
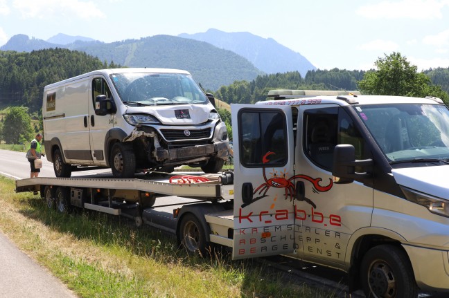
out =
<path fill-rule="evenodd" d="M 181 219 L 179 244 L 188 254 L 205 255 L 208 247 L 206 233 L 200 221 L 193 214 L 186 214 Z"/>

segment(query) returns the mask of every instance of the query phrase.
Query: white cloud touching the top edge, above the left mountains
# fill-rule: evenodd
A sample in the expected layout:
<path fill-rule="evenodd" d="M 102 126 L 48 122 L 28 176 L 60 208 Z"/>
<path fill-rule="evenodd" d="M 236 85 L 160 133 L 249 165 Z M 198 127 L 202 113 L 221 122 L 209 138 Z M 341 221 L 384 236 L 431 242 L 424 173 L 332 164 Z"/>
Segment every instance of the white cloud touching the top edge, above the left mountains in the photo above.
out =
<path fill-rule="evenodd" d="M 1 0 L 0 0 L 1 1 Z M 24 19 L 49 19 L 75 15 L 81 19 L 105 17 L 96 3 L 80 0 L 15 0 L 14 8 L 21 11 Z"/>

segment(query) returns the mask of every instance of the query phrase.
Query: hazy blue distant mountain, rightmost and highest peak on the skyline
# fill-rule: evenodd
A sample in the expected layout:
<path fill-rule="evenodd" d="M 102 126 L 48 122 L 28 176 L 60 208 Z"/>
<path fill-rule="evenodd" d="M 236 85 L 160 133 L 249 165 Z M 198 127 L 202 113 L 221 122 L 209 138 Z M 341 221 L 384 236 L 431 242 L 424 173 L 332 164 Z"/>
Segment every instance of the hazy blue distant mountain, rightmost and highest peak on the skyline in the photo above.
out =
<path fill-rule="evenodd" d="M 265 73 L 299 71 L 301 76 L 305 77 L 307 71 L 317 69 L 301 54 L 279 44 L 274 39 L 265 39 L 249 32 L 223 32 L 209 29 L 206 32 L 191 35 L 182 33 L 178 37 L 206 41 L 218 48 L 231 50 L 248 59 Z"/>

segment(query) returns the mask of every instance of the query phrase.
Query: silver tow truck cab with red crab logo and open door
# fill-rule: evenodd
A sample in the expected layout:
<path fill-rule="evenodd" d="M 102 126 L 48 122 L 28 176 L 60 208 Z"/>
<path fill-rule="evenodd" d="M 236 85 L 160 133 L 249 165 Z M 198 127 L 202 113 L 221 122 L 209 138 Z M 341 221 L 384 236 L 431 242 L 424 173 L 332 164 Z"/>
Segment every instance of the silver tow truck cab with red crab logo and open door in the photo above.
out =
<path fill-rule="evenodd" d="M 448 108 L 311 95 L 231 105 L 234 259 L 288 254 L 376 297 L 448 291 Z"/>

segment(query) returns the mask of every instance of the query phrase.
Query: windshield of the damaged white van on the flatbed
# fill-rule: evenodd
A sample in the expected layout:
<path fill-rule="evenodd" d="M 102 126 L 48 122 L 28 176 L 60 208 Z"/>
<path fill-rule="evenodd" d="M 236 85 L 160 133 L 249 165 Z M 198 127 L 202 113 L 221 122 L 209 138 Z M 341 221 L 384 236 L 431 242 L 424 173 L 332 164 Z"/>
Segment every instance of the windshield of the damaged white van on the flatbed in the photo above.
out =
<path fill-rule="evenodd" d="M 207 104 L 209 100 L 191 75 L 182 73 L 114 73 L 110 75 L 127 105 Z"/>

